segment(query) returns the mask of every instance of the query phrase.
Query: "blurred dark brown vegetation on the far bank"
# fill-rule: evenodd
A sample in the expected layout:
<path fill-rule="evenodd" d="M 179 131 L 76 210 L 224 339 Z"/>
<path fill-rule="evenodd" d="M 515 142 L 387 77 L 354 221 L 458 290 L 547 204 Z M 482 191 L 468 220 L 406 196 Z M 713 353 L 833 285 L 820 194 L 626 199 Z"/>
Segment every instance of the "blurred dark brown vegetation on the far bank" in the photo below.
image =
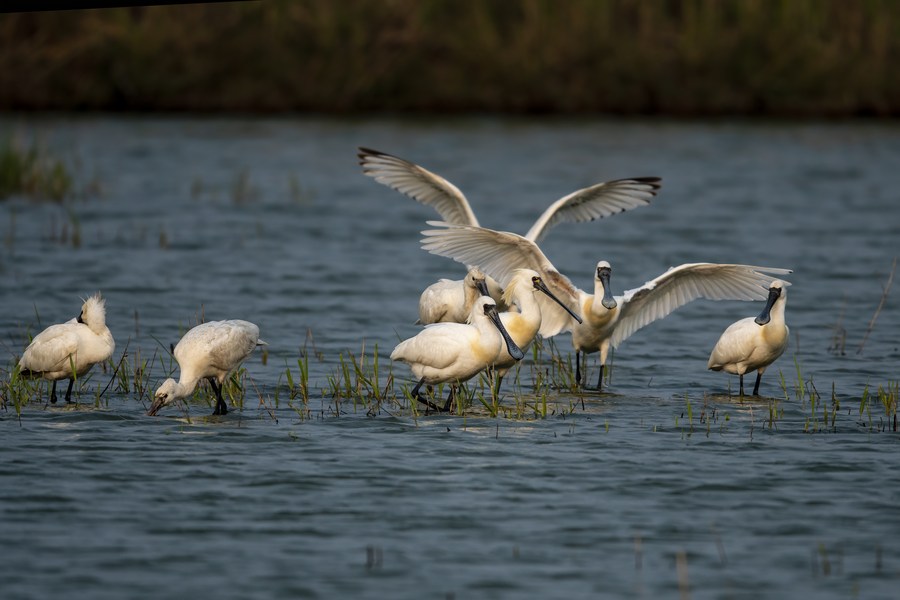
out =
<path fill-rule="evenodd" d="M 265 0 L 0 15 L 0 110 L 896 116 L 894 0 Z"/>

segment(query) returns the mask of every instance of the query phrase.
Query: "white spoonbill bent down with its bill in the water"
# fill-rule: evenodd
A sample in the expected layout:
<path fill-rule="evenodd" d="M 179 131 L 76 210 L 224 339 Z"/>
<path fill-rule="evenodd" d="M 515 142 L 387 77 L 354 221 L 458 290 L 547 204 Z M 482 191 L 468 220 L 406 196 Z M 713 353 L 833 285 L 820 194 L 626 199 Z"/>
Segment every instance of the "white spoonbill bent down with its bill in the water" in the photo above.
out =
<path fill-rule="evenodd" d="M 213 414 L 227 414 L 228 405 L 222 398 L 225 378 L 257 346 L 264 345 L 266 342 L 259 339 L 259 327 L 248 321 L 209 321 L 197 325 L 175 346 L 175 360 L 181 368 L 181 376 L 177 382 L 169 378 L 159 386 L 147 414 L 153 416 L 167 404 L 191 395 L 204 378 L 216 393 Z"/>

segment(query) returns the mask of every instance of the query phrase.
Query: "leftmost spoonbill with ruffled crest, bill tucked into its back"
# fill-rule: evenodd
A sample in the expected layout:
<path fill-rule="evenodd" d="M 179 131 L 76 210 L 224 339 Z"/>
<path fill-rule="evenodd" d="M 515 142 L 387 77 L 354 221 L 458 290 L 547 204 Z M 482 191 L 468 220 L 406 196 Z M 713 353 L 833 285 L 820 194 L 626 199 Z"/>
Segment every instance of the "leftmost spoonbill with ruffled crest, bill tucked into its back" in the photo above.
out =
<path fill-rule="evenodd" d="M 68 379 L 66 402 L 72 399 L 72 384 L 95 364 L 107 360 L 116 349 L 106 327 L 106 301 L 97 292 L 84 301 L 77 318 L 51 325 L 40 332 L 22 353 L 19 368 L 26 377 L 53 382 L 50 402 L 56 402 L 56 382 Z"/>

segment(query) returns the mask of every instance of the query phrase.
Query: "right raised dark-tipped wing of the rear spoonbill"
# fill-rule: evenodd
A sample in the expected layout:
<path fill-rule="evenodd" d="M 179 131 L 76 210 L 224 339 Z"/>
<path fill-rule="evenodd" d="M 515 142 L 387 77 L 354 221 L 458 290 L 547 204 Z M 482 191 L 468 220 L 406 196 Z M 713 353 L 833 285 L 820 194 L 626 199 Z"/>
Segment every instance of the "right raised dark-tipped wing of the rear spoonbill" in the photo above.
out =
<path fill-rule="evenodd" d="M 525 237 L 539 242 L 556 225 L 602 219 L 650 204 L 661 186 L 659 177 L 635 177 L 598 183 L 572 192 L 550 205 Z"/>

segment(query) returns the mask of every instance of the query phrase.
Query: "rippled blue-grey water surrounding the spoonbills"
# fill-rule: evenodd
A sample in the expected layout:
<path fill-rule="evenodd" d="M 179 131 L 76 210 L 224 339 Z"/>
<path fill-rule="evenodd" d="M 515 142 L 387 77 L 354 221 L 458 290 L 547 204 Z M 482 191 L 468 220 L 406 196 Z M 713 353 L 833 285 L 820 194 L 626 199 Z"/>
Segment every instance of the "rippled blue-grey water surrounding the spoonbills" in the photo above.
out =
<path fill-rule="evenodd" d="M 896 125 L 7 117 L 0 134 L 102 189 L 0 204 L 4 377 L 29 332 L 98 289 L 114 360 L 157 354 L 150 387 L 201 315 L 250 319 L 269 342 L 225 418 L 202 403 L 146 417 L 146 396 L 115 385 L 98 403 L 99 370 L 75 406 L 6 405 L 4 598 L 895 595 L 898 438 L 860 398 L 898 379 L 897 290 L 857 349 L 900 253 Z M 562 225 L 545 253 L 583 288 L 609 260 L 620 292 L 682 262 L 793 268 L 791 345 L 761 390 L 782 401 L 731 399 L 736 380 L 705 369 L 759 306 L 695 302 L 626 341 L 583 409 L 336 403 L 342 354 L 377 345 L 387 370 L 419 291 L 463 272 L 419 249 L 433 213 L 362 176 L 359 145 L 444 175 L 482 224 L 518 232 L 578 187 L 661 176 L 653 206 Z M 309 412 L 284 391 L 303 348 Z M 507 402 L 530 392 L 524 375 L 508 385 Z"/>

